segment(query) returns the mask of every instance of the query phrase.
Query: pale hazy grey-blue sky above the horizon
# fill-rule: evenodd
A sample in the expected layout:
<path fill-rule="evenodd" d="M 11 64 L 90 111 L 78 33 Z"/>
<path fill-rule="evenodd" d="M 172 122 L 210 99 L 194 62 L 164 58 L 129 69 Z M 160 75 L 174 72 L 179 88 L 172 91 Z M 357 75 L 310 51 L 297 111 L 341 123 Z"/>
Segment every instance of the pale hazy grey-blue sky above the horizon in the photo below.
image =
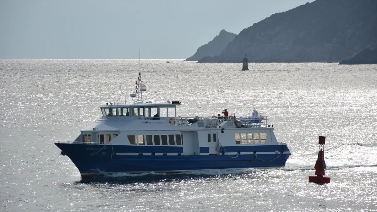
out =
<path fill-rule="evenodd" d="M 0 58 L 174 59 L 313 0 L 0 0 Z"/>

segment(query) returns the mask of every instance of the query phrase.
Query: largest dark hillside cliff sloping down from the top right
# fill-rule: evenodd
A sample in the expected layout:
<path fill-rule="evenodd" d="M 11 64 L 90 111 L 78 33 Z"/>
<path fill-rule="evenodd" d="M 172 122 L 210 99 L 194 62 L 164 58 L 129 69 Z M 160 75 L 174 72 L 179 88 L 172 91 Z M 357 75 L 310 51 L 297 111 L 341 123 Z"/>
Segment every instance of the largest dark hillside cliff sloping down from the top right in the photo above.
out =
<path fill-rule="evenodd" d="M 377 44 L 376 0 L 316 0 L 243 29 L 198 62 L 339 62 Z"/>

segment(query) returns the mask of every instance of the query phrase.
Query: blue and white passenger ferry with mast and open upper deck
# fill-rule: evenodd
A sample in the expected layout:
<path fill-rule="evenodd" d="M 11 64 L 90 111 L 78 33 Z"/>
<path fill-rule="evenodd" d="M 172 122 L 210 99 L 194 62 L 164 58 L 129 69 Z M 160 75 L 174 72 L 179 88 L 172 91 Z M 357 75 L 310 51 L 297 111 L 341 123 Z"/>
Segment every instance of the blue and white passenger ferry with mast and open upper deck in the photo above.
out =
<path fill-rule="evenodd" d="M 146 102 L 139 73 L 134 104 L 106 103 L 102 117 L 74 141 L 55 143 L 82 178 L 115 173 L 179 173 L 193 170 L 277 168 L 291 155 L 278 143 L 267 117 L 185 117 L 180 101 Z"/>

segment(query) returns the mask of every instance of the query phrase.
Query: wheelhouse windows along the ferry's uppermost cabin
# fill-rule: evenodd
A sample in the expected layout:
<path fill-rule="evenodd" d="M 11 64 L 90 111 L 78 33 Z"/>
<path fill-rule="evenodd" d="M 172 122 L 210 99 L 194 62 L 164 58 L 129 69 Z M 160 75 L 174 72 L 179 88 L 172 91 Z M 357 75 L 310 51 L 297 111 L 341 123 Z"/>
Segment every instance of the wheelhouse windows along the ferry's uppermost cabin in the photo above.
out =
<path fill-rule="evenodd" d="M 153 117 L 158 113 L 156 107 L 141 108 L 101 108 L 103 116 L 136 116 L 144 115 L 144 117 Z M 166 107 L 159 108 L 159 117 L 175 117 L 175 108 Z"/>

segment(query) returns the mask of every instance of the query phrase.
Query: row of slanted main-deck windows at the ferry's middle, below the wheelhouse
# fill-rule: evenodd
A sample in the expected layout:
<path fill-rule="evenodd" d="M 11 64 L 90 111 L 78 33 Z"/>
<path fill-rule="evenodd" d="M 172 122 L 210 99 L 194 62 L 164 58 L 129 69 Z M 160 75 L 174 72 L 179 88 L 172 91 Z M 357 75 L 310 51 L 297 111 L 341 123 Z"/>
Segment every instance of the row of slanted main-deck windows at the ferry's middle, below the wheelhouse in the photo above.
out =
<path fill-rule="evenodd" d="M 182 146 L 182 135 L 127 135 L 130 144 Z M 168 139 L 169 138 L 169 139 Z"/>

